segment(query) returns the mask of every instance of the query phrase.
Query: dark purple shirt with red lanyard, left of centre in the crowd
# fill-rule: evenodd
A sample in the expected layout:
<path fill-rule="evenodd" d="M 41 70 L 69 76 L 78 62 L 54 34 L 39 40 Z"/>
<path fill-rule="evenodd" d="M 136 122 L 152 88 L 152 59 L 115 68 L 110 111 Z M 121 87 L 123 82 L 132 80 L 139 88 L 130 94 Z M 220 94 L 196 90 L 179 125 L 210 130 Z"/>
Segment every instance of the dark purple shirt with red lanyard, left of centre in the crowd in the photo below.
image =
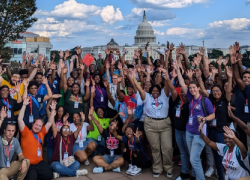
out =
<path fill-rule="evenodd" d="M 92 85 L 89 86 L 89 90 L 91 91 Z M 101 97 L 103 95 L 103 101 L 101 102 Z M 105 89 L 101 88 L 100 86 L 97 88 L 95 87 L 95 98 L 94 98 L 94 108 L 102 107 L 104 110 L 107 108 L 108 104 L 108 96 Z"/>

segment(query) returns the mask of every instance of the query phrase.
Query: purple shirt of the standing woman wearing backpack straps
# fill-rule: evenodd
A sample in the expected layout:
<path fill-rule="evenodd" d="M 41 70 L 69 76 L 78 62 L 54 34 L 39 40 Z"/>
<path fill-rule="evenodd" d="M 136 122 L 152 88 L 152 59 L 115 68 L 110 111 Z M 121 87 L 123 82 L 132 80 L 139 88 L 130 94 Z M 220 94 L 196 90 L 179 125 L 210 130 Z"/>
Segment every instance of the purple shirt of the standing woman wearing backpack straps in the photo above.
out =
<path fill-rule="evenodd" d="M 194 105 L 197 103 L 197 101 L 199 100 L 199 98 L 198 99 L 194 99 L 194 96 L 192 94 L 190 94 L 189 90 L 187 91 L 187 95 L 186 96 L 187 96 L 187 99 L 189 101 L 189 117 L 190 117 L 191 116 L 191 108 L 194 107 Z M 191 107 L 191 103 L 192 103 L 193 99 L 194 99 L 194 102 L 193 102 L 193 106 Z M 207 116 L 214 113 L 213 105 L 212 105 L 211 101 L 208 98 L 205 98 L 205 107 L 206 107 L 206 110 L 207 110 Z M 195 134 L 195 135 L 199 135 L 200 134 L 198 132 L 199 123 L 197 121 L 197 116 L 205 117 L 203 109 L 202 109 L 202 105 L 201 105 L 201 99 L 197 103 L 196 107 L 193 110 L 193 124 L 189 125 L 189 121 L 188 121 L 187 125 L 186 125 L 186 129 L 190 133 Z"/>

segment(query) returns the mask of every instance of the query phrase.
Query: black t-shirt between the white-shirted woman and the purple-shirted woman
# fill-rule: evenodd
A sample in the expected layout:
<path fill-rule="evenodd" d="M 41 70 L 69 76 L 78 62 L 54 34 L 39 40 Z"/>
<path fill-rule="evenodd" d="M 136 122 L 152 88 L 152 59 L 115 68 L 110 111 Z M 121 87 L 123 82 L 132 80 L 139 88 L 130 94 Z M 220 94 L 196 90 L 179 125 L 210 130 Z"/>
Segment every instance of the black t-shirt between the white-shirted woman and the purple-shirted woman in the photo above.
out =
<path fill-rule="evenodd" d="M 174 128 L 180 131 L 186 131 L 186 124 L 189 117 L 189 102 L 185 102 L 180 109 L 180 117 L 176 117 L 176 110 L 179 109 L 181 105 L 180 97 L 178 96 L 175 100 L 173 108 L 173 119 Z"/>

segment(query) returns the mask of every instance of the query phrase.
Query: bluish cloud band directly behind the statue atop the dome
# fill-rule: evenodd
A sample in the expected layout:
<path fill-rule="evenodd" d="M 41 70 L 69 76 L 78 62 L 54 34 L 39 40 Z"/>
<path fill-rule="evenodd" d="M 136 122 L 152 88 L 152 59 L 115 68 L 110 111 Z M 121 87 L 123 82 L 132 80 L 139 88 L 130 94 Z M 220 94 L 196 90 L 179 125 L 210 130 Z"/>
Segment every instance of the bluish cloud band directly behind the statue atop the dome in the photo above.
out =
<path fill-rule="evenodd" d="M 143 20 L 144 10 L 146 11 L 147 21 L 164 21 L 176 18 L 175 13 L 168 9 L 155 11 L 154 9 L 133 8 L 126 19 L 140 22 Z"/>

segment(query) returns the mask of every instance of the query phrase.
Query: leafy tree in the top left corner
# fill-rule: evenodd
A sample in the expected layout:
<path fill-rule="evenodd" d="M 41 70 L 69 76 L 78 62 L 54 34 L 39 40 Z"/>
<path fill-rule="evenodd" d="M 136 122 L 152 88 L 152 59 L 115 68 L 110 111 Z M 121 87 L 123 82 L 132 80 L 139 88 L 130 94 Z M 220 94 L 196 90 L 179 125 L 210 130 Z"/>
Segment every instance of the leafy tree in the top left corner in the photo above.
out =
<path fill-rule="evenodd" d="M 20 39 L 20 33 L 32 26 L 37 18 L 36 0 L 1 0 L 0 1 L 0 54 L 8 52 L 5 44 Z M 9 55 L 2 56 L 7 59 Z"/>

